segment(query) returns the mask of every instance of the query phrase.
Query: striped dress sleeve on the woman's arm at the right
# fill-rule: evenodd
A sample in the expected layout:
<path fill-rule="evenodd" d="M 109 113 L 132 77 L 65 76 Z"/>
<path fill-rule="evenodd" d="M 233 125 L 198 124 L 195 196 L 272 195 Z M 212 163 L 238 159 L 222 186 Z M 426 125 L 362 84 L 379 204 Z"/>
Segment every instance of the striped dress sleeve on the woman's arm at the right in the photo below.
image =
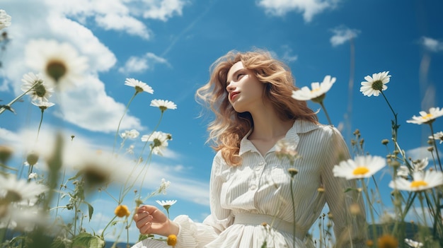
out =
<path fill-rule="evenodd" d="M 356 194 L 355 181 L 347 180 L 342 177 L 334 177 L 333 167 L 340 161 L 350 158 L 349 150 L 340 134 L 340 131 L 333 126 L 328 126 L 328 141 L 326 144 L 326 154 L 323 160 L 323 170 L 321 179 L 326 194 L 326 203 L 334 223 L 334 234 L 337 247 L 366 247 L 366 214 L 364 211 L 364 201 Z M 350 208 L 354 211 L 350 211 Z M 357 210 L 355 210 L 357 209 Z M 352 246 L 351 246 L 352 242 Z"/>

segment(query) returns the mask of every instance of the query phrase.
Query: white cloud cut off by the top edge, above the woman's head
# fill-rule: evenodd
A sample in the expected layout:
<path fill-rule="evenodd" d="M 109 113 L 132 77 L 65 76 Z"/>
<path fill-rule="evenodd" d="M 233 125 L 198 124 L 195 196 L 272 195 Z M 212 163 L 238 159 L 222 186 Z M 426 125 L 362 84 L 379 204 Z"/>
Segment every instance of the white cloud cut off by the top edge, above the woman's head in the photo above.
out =
<path fill-rule="evenodd" d="M 260 0 L 258 6 L 272 16 L 284 16 L 290 11 L 303 13 L 306 22 L 310 22 L 316 14 L 335 8 L 339 0 Z"/>

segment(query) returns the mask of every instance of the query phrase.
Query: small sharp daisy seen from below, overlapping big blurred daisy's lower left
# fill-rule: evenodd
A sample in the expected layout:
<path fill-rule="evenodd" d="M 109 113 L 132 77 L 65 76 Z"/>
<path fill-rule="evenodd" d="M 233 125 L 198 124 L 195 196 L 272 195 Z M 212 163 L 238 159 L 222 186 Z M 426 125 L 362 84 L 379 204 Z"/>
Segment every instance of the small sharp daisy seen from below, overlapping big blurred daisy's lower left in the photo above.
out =
<path fill-rule="evenodd" d="M 23 75 L 21 79 L 23 85 L 21 85 L 21 90 L 30 95 L 31 100 L 40 100 L 41 102 L 49 101 L 54 90 L 50 88 L 45 81 L 42 79 L 42 74 L 38 73 L 35 75 L 32 72 Z"/>

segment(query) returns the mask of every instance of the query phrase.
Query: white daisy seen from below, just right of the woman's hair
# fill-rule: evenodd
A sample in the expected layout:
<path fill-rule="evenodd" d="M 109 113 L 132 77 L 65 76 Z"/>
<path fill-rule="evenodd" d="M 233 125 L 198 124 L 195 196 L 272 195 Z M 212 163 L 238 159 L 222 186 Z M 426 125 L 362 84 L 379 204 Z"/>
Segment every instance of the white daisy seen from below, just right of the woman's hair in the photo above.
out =
<path fill-rule="evenodd" d="M 301 101 L 312 100 L 313 102 L 322 102 L 325 98 L 326 92 L 332 87 L 333 83 L 335 83 L 335 78 L 331 78 L 329 75 L 325 76 L 323 82 L 311 83 L 312 90 L 307 86 L 304 86 L 299 90 L 293 90 L 292 98 Z"/>

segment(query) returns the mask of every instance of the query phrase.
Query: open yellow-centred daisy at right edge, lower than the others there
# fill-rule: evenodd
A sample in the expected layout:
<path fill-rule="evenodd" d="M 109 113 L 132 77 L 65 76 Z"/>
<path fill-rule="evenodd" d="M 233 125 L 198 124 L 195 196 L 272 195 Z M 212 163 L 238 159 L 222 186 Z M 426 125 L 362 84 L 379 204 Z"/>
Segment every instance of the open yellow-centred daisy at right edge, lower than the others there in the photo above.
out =
<path fill-rule="evenodd" d="M 427 170 L 426 172 L 414 172 L 412 182 L 402 177 L 398 177 L 389 183 L 389 187 L 405 191 L 423 191 L 442 184 L 443 172 Z"/>

